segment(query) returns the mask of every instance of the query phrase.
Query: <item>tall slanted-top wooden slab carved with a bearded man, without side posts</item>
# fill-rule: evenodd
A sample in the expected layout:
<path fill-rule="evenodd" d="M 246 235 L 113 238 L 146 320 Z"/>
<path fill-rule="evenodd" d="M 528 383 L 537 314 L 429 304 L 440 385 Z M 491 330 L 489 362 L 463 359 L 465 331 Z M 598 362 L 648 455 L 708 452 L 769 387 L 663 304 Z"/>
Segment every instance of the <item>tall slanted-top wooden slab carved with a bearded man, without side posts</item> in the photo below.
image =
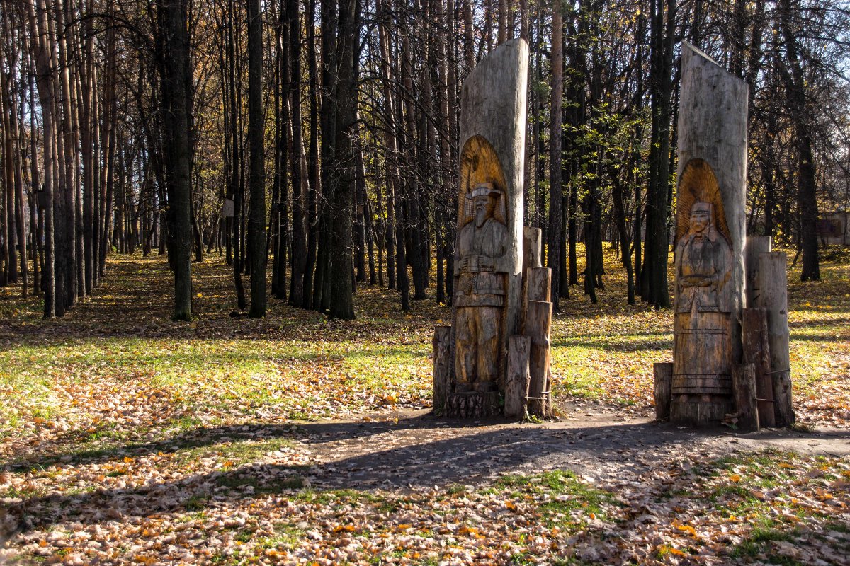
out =
<path fill-rule="evenodd" d="M 508 338 L 520 332 L 527 81 L 528 45 L 514 39 L 462 87 L 449 397 L 504 392 Z"/>

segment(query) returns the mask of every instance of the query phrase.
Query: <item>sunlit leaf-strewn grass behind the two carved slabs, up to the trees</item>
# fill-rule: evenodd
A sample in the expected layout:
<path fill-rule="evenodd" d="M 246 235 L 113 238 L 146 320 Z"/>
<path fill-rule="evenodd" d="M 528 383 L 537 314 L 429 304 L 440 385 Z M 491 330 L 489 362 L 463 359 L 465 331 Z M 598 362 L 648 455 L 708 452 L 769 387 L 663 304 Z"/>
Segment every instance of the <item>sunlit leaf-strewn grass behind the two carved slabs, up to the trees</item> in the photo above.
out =
<path fill-rule="evenodd" d="M 649 406 L 652 364 L 671 357 L 672 313 L 626 305 L 623 270 L 605 251 L 599 303 L 574 287 L 554 317 L 553 390 L 562 399 Z M 809 403 L 824 417 L 850 404 L 850 258 L 834 255 L 822 264 L 820 283 L 798 283 L 798 267 L 789 272 L 795 395 L 802 404 L 832 400 L 820 403 L 823 409 Z M 0 327 L 0 395 L 14 400 L 0 406 L 0 437 L 33 421 L 83 428 L 87 401 L 98 404 L 99 393 L 115 397 L 127 384 L 133 390 L 122 404 L 160 395 L 161 406 L 180 413 L 167 415 L 172 420 L 269 411 L 315 418 L 428 405 L 431 335 L 450 320 L 449 307 L 426 300 L 402 312 L 394 292 L 360 285 L 354 322 L 277 300 L 262 321 L 231 318 L 229 267 L 207 257 L 193 270 L 191 323 L 170 321 L 170 274 L 159 257 L 112 255 L 94 296 L 59 320 L 41 319 L 39 299 L 0 289 L 0 317 L 8 322 Z M 146 417 L 148 424 L 159 419 Z M 122 431 L 103 434 L 119 440 Z"/>

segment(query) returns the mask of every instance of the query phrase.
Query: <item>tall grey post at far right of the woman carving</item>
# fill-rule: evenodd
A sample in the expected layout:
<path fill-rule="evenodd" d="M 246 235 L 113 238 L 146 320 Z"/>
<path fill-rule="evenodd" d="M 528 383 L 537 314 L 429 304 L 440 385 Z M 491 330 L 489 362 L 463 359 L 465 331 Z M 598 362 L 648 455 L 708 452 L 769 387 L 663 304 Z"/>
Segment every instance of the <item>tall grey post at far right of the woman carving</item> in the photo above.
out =
<path fill-rule="evenodd" d="M 776 424 L 794 424 L 791 405 L 791 355 L 788 331 L 788 258 L 785 252 L 772 251 L 758 258 L 759 306 L 768 312 L 770 373 L 774 384 Z"/>

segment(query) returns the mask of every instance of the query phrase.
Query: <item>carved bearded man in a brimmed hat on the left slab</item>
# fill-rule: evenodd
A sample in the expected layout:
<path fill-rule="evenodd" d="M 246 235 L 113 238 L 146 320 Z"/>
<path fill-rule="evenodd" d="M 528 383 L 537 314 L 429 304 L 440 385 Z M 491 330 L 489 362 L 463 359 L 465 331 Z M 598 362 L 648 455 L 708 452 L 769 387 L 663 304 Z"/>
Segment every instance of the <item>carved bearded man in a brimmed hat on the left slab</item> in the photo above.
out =
<path fill-rule="evenodd" d="M 507 227 L 494 211 L 502 193 L 482 182 L 467 193 L 475 216 L 457 236 L 455 375 L 460 387 L 496 390 L 505 305 Z"/>

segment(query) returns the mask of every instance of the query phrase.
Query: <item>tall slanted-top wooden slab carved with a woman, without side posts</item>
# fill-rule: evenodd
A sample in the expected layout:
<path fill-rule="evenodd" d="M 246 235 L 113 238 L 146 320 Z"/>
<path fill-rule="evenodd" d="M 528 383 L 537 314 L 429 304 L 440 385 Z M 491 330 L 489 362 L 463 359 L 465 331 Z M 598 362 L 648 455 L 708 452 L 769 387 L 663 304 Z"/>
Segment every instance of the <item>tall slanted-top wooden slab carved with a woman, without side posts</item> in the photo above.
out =
<path fill-rule="evenodd" d="M 747 85 L 682 44 L 671 421 L 732 412 L 744 305 Z"/>

